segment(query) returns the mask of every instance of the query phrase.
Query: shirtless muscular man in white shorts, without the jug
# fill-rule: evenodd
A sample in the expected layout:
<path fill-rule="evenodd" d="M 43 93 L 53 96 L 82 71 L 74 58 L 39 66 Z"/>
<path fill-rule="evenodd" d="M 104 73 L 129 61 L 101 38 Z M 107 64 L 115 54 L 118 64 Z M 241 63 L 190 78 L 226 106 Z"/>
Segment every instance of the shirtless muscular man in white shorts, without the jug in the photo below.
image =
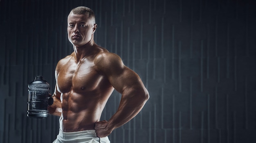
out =
<path fill-rule="evenodd" d="M 56 66 L 54 104 L 48 107 L 50 114 L 60 116 L 54 143 L 109 143 L 107 136 L 135 117 L 149 98 L 139 76 L 117 54 L 94 43 L 96 28 L 87 7 L 79 6 L 67 17 L 74 52 Z M 108 121 L 100 121 L 114 89 L 122 94 L 119 108 Z"/>

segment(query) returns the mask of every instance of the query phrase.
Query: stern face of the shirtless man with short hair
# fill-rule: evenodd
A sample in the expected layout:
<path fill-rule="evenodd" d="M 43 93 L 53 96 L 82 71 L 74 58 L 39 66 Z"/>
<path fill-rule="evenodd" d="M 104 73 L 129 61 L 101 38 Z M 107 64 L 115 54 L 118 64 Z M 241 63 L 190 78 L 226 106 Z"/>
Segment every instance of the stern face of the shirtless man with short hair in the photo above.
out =
<path fill-rule="evenodd" d="M 96 28 L 97 25 L 89 19 L 88 15 L 70 13 L 67 17 L 67 36 L 74 46 L 79 47 L 93 40 L 92 34 Z"/>

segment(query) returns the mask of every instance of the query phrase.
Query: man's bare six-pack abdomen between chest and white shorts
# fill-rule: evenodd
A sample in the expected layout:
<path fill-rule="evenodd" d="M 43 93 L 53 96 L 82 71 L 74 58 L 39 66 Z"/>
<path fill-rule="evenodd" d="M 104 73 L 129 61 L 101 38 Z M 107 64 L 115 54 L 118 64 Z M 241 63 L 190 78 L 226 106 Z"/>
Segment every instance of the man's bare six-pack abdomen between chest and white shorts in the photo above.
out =
<path fill-rule="evenodd" d="M 60 130 L 63 132 L 93 130 L 94 123 L 100 120 L 110 94 L 103 96 L 74 92 L 61 94 Z"/>

